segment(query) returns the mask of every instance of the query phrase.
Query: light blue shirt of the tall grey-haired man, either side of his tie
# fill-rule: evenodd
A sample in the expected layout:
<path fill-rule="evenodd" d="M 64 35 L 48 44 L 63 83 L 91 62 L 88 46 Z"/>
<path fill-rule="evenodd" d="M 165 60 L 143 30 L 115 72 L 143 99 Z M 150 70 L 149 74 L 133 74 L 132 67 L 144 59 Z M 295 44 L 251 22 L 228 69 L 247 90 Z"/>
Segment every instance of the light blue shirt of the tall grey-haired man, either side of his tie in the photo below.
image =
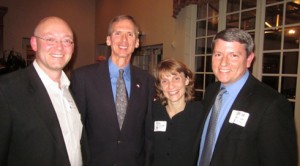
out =
<path fill-rule="evenodd" d="M 119 70 L 118 66 L 116 66 L 111 58 L 108 59 L 108 68 L 109 68 L 109 76 L 110 76 L 110 82 L 111 82 L 111 87 L 114 95 L 114 100 L 116 101 L 116 89 L 117 89 L 117 79 L 119 77 Z M 123 79 L 125 81 L 125 86 L 128 94 L 128 98 L 130 98 L 130 66 L 127 65 L 124 69 L 124 74 L 123 74 Z"/>

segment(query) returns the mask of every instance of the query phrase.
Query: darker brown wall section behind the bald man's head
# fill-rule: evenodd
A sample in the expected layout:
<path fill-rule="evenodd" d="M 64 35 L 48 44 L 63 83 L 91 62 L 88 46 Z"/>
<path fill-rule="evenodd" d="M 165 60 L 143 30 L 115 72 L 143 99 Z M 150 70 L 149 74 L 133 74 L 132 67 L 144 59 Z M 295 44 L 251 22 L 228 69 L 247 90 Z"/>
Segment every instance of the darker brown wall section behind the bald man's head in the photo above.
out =
<path fill-rule="evenodd" d="M 8 7 L 3 50 L 22 53 L 22 38 L 30 37 L 42 18 L 54 15 L 65 19 L 74 31 L 74 67 L 94 62 L 95 0 L 0 0 L 0 6 Z"/>

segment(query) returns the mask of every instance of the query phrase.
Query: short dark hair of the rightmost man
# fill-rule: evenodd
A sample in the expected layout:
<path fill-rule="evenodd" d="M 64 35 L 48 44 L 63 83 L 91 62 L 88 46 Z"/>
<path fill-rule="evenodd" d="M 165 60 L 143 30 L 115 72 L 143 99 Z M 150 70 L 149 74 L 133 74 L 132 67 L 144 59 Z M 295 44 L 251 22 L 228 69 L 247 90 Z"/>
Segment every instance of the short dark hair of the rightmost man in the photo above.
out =
<path fill-rule="evenodd" d="M 212 41 L 212 50 L 215 47 L 215 41 L 217 39 L 222 39 L 227 42 L 239 42 L 245 45 L 247 56 L 249 56 L 254 49 L 254 42 L 252 36 L 241 29 L 238 28 L 229 28 L 217 33 Z"/>

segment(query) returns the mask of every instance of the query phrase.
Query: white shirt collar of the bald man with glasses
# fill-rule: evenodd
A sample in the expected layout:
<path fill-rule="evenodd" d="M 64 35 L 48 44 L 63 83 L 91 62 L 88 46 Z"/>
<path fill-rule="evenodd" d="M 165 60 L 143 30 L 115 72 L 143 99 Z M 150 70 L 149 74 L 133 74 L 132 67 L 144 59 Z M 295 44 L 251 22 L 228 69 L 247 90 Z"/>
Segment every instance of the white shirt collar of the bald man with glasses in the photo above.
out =
<path fill-rule="evenodd" d="M 39 77 L 41 78 L 43 84 L 45 86 L 50 86 L 50 85 L 55 85 L 58 87 L 58 83 L 53 81 L 45 72 L 44 70 L 39 66 L 39 64 L 36 62 L 36 60 L 33 61 L 33 66 L 35 68 L 35 70 L 37 71 Z M 64 89 L 64 88 L 68 88 L 70 85 L 70 81 L 67 77 L 67 75 L 65 74 L 64 71 L 62 71 L 61 77 L 60 77 L 60 88 Z"/>

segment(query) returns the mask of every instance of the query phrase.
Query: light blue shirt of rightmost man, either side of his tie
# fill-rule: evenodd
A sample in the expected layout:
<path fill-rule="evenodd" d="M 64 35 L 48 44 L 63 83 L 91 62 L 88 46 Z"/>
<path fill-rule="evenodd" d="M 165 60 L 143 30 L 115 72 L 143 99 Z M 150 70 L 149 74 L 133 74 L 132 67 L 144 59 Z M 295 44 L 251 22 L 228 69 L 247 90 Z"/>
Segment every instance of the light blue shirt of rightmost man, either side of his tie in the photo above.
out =
<path fill-rule="evenodd" d="M 225 87 L 226 89 L 226 93 L 223 94 L 222 96 L 222 108 L 218 117 L 218 122 L 217 122 L 217 126 L 216 126 L 216 140 L 214 142 L 214 147 L 216 145 L 216 141 L 217 138 L 219 136 L 221 127 L 224 123 L 224 120 L 229 112 L 229 109 L 231 108 L 233 102 L 235 101 L 236 96 L 239 94 L 240 90 L 242 89 L 242 87 L 244 86 L 245 82 L 247 81 L 249 77 L 249 71 L 247 70 L 246 73 L 235 83 L 232 83 L 230 85 L 224 86 L 223 84 L 221 84 L 221 87 Z M 220 87 L 220 88 L 221 88 Z M 199 160 L 201 158 L 202 155 L 202 151 L 203 151 L 203 146 L 204 146 L 204 142 L 205 142 L 205 137 L 206 137 L 206 132 L 207 132 L 207 127 L 208 127 L 208 123 L 209 123 L 209 119 L 211 116 L 211 110 L 206 118 L 205 121 L 205 125 L 204 125 L 204 129 L 203 129 L 203 133 L 202 133 L 202 137 L 201 137 L 201 143 L 200 143 L 200 152 L 199 152 L 199 158 L 198 158 L 198 166 L 199 165 Z"/>

